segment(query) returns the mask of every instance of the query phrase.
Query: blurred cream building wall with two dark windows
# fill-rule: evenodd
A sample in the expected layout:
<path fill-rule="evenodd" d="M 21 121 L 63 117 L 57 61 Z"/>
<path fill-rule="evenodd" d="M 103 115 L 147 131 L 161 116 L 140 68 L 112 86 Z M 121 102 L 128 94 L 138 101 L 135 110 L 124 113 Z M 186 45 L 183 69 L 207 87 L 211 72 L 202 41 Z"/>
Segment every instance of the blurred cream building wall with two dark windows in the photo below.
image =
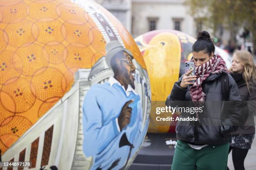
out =
<path fill-rule="evenodd" d="M 187 14 L 183 0 L 133 0 L 132 35 L 145 32 L 172 29 L 195 36 L 197 23 Z"/>

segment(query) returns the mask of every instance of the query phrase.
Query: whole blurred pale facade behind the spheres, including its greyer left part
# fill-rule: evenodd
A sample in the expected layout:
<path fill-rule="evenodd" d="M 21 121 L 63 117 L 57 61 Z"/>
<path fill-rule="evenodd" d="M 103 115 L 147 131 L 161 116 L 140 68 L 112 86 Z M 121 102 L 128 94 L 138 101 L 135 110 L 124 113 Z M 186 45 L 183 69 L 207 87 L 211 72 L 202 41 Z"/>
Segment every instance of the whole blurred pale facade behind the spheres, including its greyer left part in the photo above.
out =
<path fill-rule="evenodd" d="M 196 36 L 202 30 L 202 22 L 197 22 L 188 13 L 183 0 L 95 0 L 137 37 L 157 29 L 180 30 Z"/>

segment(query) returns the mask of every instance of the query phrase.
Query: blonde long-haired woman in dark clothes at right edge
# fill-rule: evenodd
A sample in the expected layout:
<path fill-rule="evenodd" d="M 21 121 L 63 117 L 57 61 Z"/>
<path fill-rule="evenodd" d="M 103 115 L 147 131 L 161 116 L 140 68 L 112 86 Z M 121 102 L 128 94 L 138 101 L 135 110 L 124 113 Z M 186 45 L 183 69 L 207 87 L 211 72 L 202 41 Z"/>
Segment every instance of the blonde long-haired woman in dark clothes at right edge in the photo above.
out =
<path fill-rule="evenodd" d="M 248 102 L 249 117 L 244 126 L 232 133 L 229 153 L 232 150 L 232 159 L 235 170 L 244 170 L 244 160 L 251 149 L 255 134 L 253 112 L 255 112 L 256 101 L 256 65 L 253 57 L 248 51 L 237 51 L 233 54 L 231 76 L 238 85 L 238 90 L 243 101 Z M 253 104 L 254 103 L 254 104 Z"/>

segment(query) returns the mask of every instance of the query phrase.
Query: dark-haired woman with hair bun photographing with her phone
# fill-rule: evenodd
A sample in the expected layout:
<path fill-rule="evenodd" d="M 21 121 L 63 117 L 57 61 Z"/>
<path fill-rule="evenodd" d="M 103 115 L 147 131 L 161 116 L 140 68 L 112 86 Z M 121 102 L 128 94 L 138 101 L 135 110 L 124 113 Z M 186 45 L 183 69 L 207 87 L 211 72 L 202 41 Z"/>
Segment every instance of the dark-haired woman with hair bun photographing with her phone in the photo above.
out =
<path fill-rule="evenodd" d="M 241 108 L 223 119 L 220 105 L 224 100 L 222 76 L 227 77 L 226 100 L 241 101 L 241 97 L 224 60 L 214 52 L 215 46 L 209 33 L 200 32 L 192 47 L 195 75 L 189 75 L 192 70 L 182 75 L 167 97 L 166 105 L 169 106 L 177 105 L 179 101 L 191 101 L 194 106 L 204 104 L 202 113 L 187 114 L 187 117 L 198 118 L 197 121 L 177 122 L 178 140 L 172 170 L 226 170 L 231 133 L 236 130 L 234 125 L 243 125 L 245 122 L 241 119 Z M 186 117 L 186 113 L 182 112 L 180 117 Z M 220 126 L 223 122 L 225 126 Z"/>

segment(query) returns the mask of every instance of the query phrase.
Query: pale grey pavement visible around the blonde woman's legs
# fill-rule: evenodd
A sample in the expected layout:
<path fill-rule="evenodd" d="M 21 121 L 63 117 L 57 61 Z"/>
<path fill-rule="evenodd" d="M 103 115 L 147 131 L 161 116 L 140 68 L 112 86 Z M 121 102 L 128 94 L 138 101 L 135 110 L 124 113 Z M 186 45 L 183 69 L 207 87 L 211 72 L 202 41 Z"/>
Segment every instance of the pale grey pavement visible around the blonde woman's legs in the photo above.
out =
<path fill-rule="evenodd" d="M 256 116 L 254 116 L 254 122 L 256 121 Z M 233 161 L 232 161 L 232 151 L 228 155 L 228 168 L 234 170 Z M 246 170 L 256 170 L 256 138 L 254 138 L 251 145 L 251 149 L 248 151 L 246 159 L 244 161 L 244 167 Z"/>

